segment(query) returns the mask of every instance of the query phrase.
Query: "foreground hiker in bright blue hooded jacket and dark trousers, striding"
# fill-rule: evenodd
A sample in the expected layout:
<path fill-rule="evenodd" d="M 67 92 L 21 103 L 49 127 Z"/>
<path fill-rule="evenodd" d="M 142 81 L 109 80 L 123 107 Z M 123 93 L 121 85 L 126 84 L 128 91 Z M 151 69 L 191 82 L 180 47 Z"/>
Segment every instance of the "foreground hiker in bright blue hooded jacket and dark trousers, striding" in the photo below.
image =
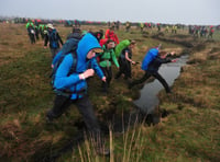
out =
<path fill-rule="evenodd" d="M 56 71 L 54 86 L 57 90 L 57 94 L 54 106 L 47 112 L 46 118 L 52 121 L 54 118 L 59 117 L 70 104 L 75 104 L 82 115 L 90 135 L 98 139 L 100 127 L 87 96 L 86 82 L 89 77 L 94 76 L 95 71 L 102 81 L 106 81 L 106 77 L 97 63 L 96 53 L 102 53 L 101 46 L 96 37 L 91 34 L 86 34 L 78 43 L 76 71 L 72 74 L 68 73 L 74 63 L 74 57 L 72 54 L 67 54 Z M 69 95 L 64 95 L 66 94 L 62 93 L 64 91 L 68 91 Z"/>

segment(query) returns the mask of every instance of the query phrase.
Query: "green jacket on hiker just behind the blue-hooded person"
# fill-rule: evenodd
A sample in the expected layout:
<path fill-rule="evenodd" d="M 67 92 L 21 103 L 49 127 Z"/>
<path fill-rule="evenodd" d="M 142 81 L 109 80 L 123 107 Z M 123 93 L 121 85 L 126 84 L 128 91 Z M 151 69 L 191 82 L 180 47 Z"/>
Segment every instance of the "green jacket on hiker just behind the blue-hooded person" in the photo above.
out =
<path fill-rule="evenodd" d="M 113 49 L 107 49 L 106 46 L 103 45 L 102 47 L 103 53 L 100 54 L 99 58 L 100 58 L 100 62 L 99 66 L 100 67 L 111 67 L 111 60 L 114 62 L 114 65 L 117 66 L 117 68 L 119 68 L 119 62 L 117 60 L 116 54 Z"/>

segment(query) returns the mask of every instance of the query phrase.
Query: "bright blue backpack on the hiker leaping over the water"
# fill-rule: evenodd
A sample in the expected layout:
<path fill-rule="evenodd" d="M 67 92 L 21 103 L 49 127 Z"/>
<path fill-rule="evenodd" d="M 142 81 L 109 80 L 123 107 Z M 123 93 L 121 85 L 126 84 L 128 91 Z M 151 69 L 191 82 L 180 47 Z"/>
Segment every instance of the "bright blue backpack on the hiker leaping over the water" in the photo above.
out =
<path fill-rule="evenodd" d="M 142 70 L 147 70 L 150 62 L 151 62 L 157 55 L 158 55 L 158 48 L 151 48 L 151 49 L 146 53 L 146 55 L 145 55 L 145 57 L 144 57 L 144 59 L 143 59 L 143 61 L 142 61 L 141 69 L 142 69 Z"/>

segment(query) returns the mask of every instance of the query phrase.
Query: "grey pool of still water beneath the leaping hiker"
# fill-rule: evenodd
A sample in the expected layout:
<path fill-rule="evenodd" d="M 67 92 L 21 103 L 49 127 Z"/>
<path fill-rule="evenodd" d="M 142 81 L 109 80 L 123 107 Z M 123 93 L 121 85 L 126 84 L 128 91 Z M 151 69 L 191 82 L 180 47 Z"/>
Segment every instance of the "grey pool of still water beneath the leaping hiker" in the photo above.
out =
<path fill-rule="evenodd" d="M 176 78 L 180 73 L 180 68 L 186 65 L 188 56 L 182 56 L 176 62 L 162 65 L 158 72 L 166 80 L 169 86 L 173 85 Z M 164 89 L 158 80 L 146 83 L 141 90 L 141 97 L 134 101 L 134 104 L 146 114 L 152 114 L 154 107 L 160 104 L 157 94 Z"/>

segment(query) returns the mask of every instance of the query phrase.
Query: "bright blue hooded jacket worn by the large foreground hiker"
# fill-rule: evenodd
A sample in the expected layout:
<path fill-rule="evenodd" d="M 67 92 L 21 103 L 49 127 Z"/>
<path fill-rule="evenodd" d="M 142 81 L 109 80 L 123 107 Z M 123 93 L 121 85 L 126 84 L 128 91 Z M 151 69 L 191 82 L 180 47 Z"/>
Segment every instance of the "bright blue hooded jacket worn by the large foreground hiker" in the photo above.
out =
<path fill-rule="evenodd" d="M 96 58 L 87 59 L 87 54 L 89 50 L 94 48 L 101 48 L 96 37 L 94 37 L 90 33 L 86 34 L 78 43 L 77 47 L 77 66 L 76 72 L 68 76 L 68 72 L 73 66 L 74 58 L 72 54 L 67 54 L 62 63 L 59 65 L 54 86 L 57 90 L 70 90 L 72 100 L 80 99 L 84 96 L 87 91 L 87 82 L 86 80 L 79 79 L 79 73 L 86 71 L 87 69 L 92 68 L 96 73 L 102 78 L 103 72 L 97 63 Z"/>

